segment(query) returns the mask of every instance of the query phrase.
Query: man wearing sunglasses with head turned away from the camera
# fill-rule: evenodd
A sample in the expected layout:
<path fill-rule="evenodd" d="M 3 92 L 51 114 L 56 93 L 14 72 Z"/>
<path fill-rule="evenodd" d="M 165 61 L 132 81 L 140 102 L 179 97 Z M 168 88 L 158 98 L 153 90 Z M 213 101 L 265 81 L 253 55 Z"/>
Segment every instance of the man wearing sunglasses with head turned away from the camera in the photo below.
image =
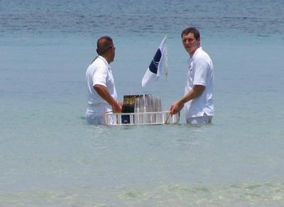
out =
<path fill-rule="evenodd" d="M 121 113 L 122 103 L 117 101 L 114 76 L 109 64 L 114 61 L 115 47 L 111 38 L 97 40 L 98 56 L 86 72 L 87 112 L 89 124 L 104 124 L 104 113 Z"/>

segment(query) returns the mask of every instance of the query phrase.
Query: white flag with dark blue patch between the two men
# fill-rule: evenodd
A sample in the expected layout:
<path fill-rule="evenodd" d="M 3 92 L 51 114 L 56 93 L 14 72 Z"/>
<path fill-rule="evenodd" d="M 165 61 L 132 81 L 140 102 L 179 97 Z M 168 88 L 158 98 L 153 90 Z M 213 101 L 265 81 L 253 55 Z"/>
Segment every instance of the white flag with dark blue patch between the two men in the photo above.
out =
<path fill-rule="evenodd" d="M 142 86 L 146 86 L 158 80 L 161 74 L 168 74 L 167 70 L 167 43 L 166 37 L 160 43 L 160 47 L 158 48 L 151 64 L 149 65 L 146 74 L 142 79 Z"/>

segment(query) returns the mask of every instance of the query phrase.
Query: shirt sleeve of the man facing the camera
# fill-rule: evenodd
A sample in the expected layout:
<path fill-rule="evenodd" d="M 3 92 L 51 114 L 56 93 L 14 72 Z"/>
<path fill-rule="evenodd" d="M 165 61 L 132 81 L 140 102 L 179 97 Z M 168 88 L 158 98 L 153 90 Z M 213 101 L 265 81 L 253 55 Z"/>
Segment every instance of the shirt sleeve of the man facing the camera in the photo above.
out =
<path fill-rule="evenodd" d="M 195 62 L 195 75 L 193 79 L 194 85 L 206 86 L 207 82 L 207 62 L 202 58 L 196 60 Z"/>

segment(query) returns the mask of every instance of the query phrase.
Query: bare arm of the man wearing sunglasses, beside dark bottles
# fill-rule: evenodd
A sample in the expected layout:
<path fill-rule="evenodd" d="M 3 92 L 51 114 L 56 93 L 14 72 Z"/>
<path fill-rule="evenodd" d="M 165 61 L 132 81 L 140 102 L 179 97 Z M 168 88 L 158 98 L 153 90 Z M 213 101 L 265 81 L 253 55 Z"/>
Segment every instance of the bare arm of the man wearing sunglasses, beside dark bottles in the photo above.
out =
<path fill-rule="evenodd" d="M 99 96 L 106 100 L 109 105 L 111 105 L 112 111 L 114 111 L 114 113 L 121 113 L 121 106 L 116 102 L 116 100 L 114 100 L 111 94 L 109 94 L 109 89 L 107 89 L 106 86 L 96 84 L 94 85 L 94 89 L 97 91 Z"/>

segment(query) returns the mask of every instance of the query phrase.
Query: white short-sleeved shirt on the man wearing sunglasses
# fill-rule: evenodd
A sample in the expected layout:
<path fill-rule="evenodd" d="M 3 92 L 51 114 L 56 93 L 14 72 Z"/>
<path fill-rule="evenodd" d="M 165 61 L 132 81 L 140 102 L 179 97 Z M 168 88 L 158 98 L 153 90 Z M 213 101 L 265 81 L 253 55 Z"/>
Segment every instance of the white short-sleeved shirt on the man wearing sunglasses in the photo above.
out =
<path fill-rule="evenodd" d="M 96 84 L 106 86 L 111 96 L 117 101 L 116 87 L 111 67 L 107 60 L 100 55 L 89 65 L 86 72 L 87 103 L 88 107 L 92 108 L 102 104 L 109 105 L 107 101 L 102 99 L 102 97 L 97 94 L 97 91 L 94 90 L 94 85 Z"/>

